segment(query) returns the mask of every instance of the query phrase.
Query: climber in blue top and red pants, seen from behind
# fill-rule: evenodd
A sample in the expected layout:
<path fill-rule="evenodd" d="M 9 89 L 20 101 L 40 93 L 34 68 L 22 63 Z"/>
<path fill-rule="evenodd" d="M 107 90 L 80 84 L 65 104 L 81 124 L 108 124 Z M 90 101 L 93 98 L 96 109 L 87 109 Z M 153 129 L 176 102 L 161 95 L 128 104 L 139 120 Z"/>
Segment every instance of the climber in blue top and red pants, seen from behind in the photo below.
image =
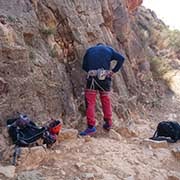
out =
<path fill-rule="evenodd" d="M 116 65 L 110 70 L 112 60 L 116 60 Z M 107 131 L 111 129 L 111 78 L 121 68 L 124 60 L 125 58 L 112 47 L 102 43 L 87 49 L 82 64 L 82 69 L 87 72 L 85 89 L 87 128 L 80 132 L 81 136 L 92 135 L 96 132 L 95 105 L 97 92 L 100 93 L 104 114 L 103 128 Z"/>

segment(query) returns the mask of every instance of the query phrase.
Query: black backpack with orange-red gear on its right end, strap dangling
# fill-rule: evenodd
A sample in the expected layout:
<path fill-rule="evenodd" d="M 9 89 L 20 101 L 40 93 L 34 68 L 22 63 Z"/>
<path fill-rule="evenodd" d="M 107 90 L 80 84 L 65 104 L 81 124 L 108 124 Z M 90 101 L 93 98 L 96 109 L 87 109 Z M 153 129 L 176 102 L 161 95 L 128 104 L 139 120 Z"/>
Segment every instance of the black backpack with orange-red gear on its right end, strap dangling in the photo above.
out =
<path fill-rule="evenodd" d="M 15 144 L 12 164 L 16 164 L 16 158 L 20 156 L 21 147 L 29 147 L 36 144 L 38 139 L 43 140 L 50 148 L 55 142 L 61 129 L 59 120 L 52 120 L 51 123 L 44 127 L 37 126 L 26 115 L 19 114 L 17 118 L 7 120 L 8 134 Z"/>

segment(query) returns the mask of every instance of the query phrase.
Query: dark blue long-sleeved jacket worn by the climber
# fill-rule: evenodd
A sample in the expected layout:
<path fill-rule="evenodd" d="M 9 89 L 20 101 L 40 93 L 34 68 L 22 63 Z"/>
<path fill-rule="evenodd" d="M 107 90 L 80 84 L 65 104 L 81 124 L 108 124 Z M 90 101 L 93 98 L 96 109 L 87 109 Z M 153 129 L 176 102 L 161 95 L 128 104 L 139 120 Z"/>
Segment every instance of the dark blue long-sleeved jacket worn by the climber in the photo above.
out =
<path fill-rule="evenodd" d="M 110 70 L 112 60 L 117 61 L 115 67 L 112 69 L 115 73 L 121 68 L 125 58 L 110 46 L 102 44 L 96 45 L 86 51 L 83 58 L 82 68 L 86 72 L 100 68 Z"/>

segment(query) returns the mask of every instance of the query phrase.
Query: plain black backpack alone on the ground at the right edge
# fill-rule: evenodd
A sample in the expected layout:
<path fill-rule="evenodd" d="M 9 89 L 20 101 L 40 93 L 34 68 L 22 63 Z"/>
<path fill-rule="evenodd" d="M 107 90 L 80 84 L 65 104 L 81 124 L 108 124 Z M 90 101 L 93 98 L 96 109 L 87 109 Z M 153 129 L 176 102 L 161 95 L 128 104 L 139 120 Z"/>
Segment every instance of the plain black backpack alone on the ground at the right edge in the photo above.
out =
<path fill-rule="evenodd" d="M 157 130 L 150 139 L 156 141 L 167 140 L 175 143 L 180 139 L 180 125 L 176 121 L 162 121 L 158 124 Z"/>

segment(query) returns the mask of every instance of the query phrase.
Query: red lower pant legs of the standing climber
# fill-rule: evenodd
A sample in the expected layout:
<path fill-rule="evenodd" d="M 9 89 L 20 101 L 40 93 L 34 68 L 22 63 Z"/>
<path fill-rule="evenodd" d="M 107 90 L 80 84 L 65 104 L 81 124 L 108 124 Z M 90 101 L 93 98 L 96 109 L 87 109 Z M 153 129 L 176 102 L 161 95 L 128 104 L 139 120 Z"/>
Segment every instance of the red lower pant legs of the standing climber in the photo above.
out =
<path fill-rule="evenodd" d="M 90 126 L 95 126 L 95 106 L 96 106 L 96 94 L 97 90 L 86 89 L 85 90 L 85 100 L 86 100 L 86 117 L 87 124 Z M 108 91 L 99 91 L 100 100 L 102 104 L 104 120 L 108 121 L 109 125 L 112 125 L 112 108 L 111 100 Z"/>

